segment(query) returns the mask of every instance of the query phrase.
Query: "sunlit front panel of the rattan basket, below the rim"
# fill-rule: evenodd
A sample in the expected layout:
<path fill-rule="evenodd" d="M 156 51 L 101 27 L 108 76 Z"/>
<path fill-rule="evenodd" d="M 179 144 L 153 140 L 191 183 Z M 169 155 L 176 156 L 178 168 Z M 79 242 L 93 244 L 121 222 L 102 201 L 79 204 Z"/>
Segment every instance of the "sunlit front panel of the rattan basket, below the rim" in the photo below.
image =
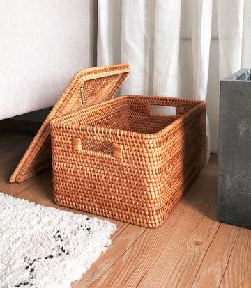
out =
<path fill-rule="evenodd" d="M 73 150 L 73 138 L 82 139 L 81 151 Z M 86 139 L 90 138 L 122 145 L 122 158 L 105 150 L 89 150 Z M 53 125 L 54 200 L 63 206 L 155 227 L 159 224 L 160 153 L 158 144 L 150 142 Z"/>

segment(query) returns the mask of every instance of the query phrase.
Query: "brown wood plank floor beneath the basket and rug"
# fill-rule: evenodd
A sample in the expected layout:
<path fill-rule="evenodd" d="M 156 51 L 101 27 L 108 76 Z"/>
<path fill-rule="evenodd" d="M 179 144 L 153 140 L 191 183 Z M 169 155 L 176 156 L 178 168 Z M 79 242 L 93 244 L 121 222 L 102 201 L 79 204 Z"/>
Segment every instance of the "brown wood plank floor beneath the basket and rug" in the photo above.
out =
<path fill-rule="evenodd" d="M 31 138 L 1 131 L 0 191 L 80 213 L 54 204 L 51 169 L 21 184 L 8 183 Z M 192 189 L 161 227 L 151 230 L 112 221 L 118 228 L 112 246 L 72 287 L 250 288 L 251 230 L 216 220 L 217 182 L 218 158 L 211 155 Z"/>

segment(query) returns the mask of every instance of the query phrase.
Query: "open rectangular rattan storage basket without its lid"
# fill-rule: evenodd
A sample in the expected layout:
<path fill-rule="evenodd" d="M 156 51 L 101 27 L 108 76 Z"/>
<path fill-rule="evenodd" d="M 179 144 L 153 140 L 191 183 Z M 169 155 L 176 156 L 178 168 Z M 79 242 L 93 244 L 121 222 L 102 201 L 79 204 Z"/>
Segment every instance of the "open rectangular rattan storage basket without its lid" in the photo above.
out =
<path fill-rule="evenodd" d="M 152 106 L 176 115 L 156 115 Z M 57 204 L 144 227 L 165 221 L 204 166 L 206 104 L 124 95 L 50 124 Z"/>

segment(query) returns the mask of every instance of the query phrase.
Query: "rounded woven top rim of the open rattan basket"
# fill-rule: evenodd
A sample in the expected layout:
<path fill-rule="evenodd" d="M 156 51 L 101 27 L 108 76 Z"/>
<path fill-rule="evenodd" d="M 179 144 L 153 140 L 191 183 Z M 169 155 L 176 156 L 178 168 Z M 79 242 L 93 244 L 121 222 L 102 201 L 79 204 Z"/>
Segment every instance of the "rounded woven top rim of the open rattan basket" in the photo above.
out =
<path fill-rule="evenodd" d="M 96 109 L 102 108 L 102 106 L 106 106 L 107 104 L 111 102 L 118 102 L 123 101 L 124 99 L 130 99 L 135 97 L 141 97 L 141 98 L 148 98 L 149 97 L 155 97 L 155 99 L 160 99 L 165 96 L 155 96 L 155 95 L 121 95 L 118 98 L 110 99 L 107 102 L 102 102 L 100 104 L 95 104 L 93 106 L 85 107 L 83 109 L 79 109 L 78 111 L 75 111 L 73 113 L 68 113 L 67 115 L 63 115 L 61 117 L 58 117 L 50 122 L 50 127 L 59 127 L 60 129 L 73 129 L 73 130 L 80 130 L 80 131 L 87 131 L 92 133 L 101 133 L 101 134 L 109 134 L 112 136 L 128 136 L 130 138 L 144 138 L 146 140 L 149 139 L 156 139 L 161 138 L 162 136 L 165 136 L 168 134 L 172 129 L 177 127 L 178 125 L 181 125 L 185 119 L 187 119 L 192 113 L 199 109 L 206 110 L 206 102 L 203 100 L 193 100 L 193 99 L 187 99 L 187 98 L 176 98 L 176 97 L 165 97 L 168 99 L 172 99 L 175 102 L 186 102 L 186 103 L 194 103 L 197 104 L 195 107 L 193 107 L 190 111 L 186 112 L 184 115 L 181 115 L 178 119 L 174 120 L 171 124 L 167 125 L 166 127 L 160 129 L 159 131 L 155 133 L 140 133 L 140 132 L 134 132 L 129 130 L 123 130 L 123 129 L 116 129 L 116 128 L 109 128 L 109 127 L 98 127 L 98 126 L 91 126 L 91 125 L 79 125 L 79 124 L 73 124 L 70 122 L 70 119 L 73 119 L 75 116 L 79 116 L 86 113 L 91 113 L 95 111 Z M 161 115 L 160 115 L 161 116 Z M 165 116 L 165 115 L 164 115 Z"/>

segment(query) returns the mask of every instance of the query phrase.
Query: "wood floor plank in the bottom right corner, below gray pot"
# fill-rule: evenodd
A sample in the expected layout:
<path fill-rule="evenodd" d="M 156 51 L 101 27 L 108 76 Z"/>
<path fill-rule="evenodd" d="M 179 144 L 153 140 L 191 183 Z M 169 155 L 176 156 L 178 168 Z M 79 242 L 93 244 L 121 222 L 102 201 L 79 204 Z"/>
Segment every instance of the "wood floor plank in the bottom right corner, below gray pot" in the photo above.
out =
<path fill-rule="evenodd" d="M 251 230 L 239 228 L 220 288 L 251 287 Z"/>

